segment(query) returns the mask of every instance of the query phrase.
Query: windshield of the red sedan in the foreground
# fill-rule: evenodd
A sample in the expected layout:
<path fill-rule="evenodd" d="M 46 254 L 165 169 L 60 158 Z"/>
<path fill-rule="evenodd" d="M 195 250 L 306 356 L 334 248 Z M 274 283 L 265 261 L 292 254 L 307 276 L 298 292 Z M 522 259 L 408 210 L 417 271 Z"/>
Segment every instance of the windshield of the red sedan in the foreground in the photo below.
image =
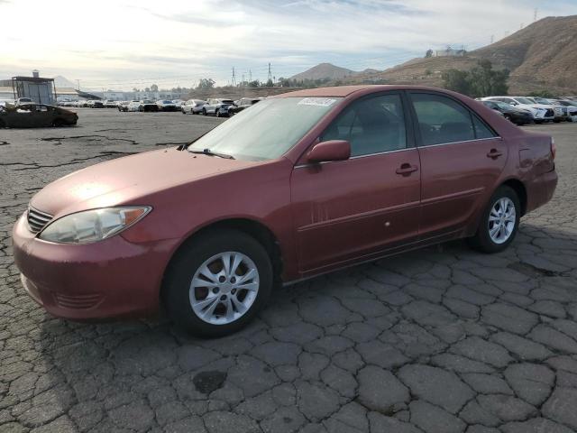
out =
<path fill-rule="evenodd" d="M 289 151 L 340 97 L 265 99 L 203 135 L 190 151 L 226 153 L 236 159 L 271 160 Z"/>

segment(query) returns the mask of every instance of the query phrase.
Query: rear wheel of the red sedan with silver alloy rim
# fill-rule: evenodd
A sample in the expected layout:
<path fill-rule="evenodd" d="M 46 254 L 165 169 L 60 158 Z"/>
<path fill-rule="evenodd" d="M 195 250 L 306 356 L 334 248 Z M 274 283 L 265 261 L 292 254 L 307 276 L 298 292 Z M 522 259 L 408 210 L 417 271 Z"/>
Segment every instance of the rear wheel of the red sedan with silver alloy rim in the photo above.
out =
<path fill-rule="evenodd" d="M 490 218 L 500 218 L 499 209 L 506 205 L 504 217 L 504 227 L 491 236 L 491 228 L 499 226 L 497 222 L 490 221 Z M 512 216 L 510 209 L 514 207 L 515 215 Z M 492 213 L 492 215 L 491 215 Z M 509 217 L 507 217 L 509 215 Z M 469 239 L 473 248 L 482 253 L 499 253 L 507 249 L 508 245 L 513 242 L 517 235 L 519 227 L 519 218 L 521 216 L 521 204 L 517 192 L 508 186 L 501 186 L 497 189 L 489 200 L 489 204 L 483 211 L 481 222 L 477 228 L 477 233 Z M 512 226 L 511 226 L 512 224 Z"/>

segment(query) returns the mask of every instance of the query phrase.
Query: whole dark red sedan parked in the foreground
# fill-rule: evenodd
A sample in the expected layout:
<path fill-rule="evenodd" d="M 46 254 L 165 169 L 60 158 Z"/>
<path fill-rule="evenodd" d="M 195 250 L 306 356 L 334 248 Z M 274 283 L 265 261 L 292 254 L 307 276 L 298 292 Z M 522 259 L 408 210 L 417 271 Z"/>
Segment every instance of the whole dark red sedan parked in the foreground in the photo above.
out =
<path fill-rule="evenodd" d="M 33 299 L 63 318 L 145 315 L 222 336 L 276 283 L 469 238 L 507 248 L 554 194 L 554 142 L 436 88 L 303 90 L 188 146 L 56 180 L 14 226 Z"/>

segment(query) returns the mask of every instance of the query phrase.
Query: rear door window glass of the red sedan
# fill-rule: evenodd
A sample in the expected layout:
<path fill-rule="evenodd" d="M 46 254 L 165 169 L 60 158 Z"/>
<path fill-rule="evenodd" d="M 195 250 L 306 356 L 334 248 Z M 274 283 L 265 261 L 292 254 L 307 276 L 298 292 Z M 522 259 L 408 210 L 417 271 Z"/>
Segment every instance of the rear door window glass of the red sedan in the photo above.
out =
<path fill-rule="evenodd" d="M 490 138 L 493 132 L 475 115 L 450 97 L 411 94 L 423 145 L 458 143 Z"/>

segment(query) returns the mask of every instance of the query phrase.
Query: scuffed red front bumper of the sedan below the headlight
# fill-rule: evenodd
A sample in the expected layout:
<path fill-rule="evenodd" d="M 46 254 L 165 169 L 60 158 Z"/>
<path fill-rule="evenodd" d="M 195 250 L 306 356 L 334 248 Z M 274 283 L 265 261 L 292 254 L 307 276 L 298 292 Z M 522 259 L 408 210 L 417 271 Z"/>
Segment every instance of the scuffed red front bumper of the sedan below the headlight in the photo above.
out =
<path fill-rule="evenodd" d="M 122 235 L 95 244 L 53 244 L 30 232 L 25 214 L 16 222 L 12 240 L 24 289 L 50 314 L 72 319 L 155 312 L 176 244 L 133 244 Z"/>

